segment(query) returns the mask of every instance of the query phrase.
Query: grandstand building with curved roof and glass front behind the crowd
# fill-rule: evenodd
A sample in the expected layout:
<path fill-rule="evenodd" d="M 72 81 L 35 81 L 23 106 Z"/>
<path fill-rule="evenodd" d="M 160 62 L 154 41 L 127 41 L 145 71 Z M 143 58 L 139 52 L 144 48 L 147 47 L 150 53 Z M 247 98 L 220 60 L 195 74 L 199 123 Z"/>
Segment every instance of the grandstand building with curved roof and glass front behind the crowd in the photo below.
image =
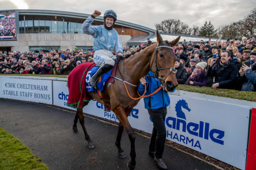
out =
<path fill-rule="evenodd" d="M 90 15 L 28 9 L 0 11 L 0 51 L 38 52 L 74 49 L 75 47 L 87 51 L 87 49 L 93 48 L 93 37 L 83 33 L 82 24 Z M 103 17 L 98 16 L 92 25 L 102 25 L 103 22 Z M 119 33 L 122 45 L 137 46 L 141 42 L 147 42 L 147 38 L 156 42 L 156 30 L 154 29 L 121 20 L 115 22 L 114 28 Z M 164 40 L 169 41 L 179 36 L 166 33 L 161 33 L 161 35 Z M 180 41 L 184 39 L 193 42 L 208 40 L 204 37 L 182 35 Z"/>

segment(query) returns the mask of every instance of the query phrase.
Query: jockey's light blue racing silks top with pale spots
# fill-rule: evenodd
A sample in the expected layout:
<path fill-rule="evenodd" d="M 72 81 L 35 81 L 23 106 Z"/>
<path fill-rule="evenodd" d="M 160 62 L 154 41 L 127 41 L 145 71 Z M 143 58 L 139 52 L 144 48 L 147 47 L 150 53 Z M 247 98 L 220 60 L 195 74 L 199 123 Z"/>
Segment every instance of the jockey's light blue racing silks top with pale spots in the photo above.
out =
<path fill-rule="evenodd" d="M 83 32 L 93 36 L 93 49 L 107 49 L 112 51 L 115 48 L 116 53 L 123 53 L 122 44 L 119 35 L 115 29 L 107 30 L 103 25 L 91 26 L 94 18 L 89 16 L 85 22 L 83 22 Z"/>

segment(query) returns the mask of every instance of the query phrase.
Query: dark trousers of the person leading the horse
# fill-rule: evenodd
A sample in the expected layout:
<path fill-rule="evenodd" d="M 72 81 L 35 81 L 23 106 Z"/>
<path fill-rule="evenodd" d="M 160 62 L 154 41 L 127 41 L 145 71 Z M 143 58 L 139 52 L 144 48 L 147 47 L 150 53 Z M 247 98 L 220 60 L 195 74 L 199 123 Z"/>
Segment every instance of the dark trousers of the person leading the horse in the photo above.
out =
<path fill-rule="evenodd" d="M 155 152 L 156 158 L 162 158 L 166 138 L 164 120 L 167 109 L 166 107 L 160 109 L 148 109 L 148 113 L 154 125 L 150 139 L 149 150 Z"/>

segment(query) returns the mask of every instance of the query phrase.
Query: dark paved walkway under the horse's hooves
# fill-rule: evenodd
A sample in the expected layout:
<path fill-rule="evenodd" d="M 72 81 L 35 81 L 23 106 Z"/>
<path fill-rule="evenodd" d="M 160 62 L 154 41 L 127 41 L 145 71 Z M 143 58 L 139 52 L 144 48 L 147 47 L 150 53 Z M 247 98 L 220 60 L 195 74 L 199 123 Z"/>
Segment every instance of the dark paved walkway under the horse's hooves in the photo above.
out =
<path fill-rule="evenodd" d="M 0 100 L 0 127 L 17 137 L 49 170 L 127 170 L 130 141 L 126 131 L 121 146 L 128 157 L 117 156 L 117 126 L 85 117 L 85 126 L 96 148 L 87 142 L 78 121 L 78 132 L 71 129 L 74 113 L 48 106 Z M 148 151 L 150 139 L 136 134 L 136 170 L 157 170 Z M 163 159 L 169 170 L 216 170 L 202 161 L 165 147 Z"/>

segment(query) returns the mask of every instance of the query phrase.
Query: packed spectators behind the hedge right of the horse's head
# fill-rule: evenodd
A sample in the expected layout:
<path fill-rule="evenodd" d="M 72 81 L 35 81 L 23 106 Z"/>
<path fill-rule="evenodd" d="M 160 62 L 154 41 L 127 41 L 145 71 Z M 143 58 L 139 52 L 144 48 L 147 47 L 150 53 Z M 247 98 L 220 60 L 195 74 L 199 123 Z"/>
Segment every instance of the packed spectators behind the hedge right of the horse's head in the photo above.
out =
<path fill-rule="evenodd" d="M 237 39 L 176 44 L 179 84 L 256 91 L 255 35 Z"/>

